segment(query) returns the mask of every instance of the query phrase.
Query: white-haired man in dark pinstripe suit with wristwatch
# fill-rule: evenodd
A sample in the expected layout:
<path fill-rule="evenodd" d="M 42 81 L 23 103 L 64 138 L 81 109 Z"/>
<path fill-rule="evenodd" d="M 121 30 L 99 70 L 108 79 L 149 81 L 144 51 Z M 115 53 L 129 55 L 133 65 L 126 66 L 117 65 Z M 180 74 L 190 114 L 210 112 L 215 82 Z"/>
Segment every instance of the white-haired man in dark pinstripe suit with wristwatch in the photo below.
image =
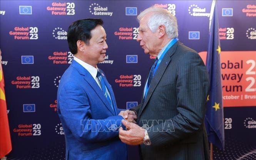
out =
<path fill-rule="evenodd" d="M 178 37 L 177 20 L 162 8 L 138 15 L 137 41 L 156 61 L 146 80 L 142 102 L 132 108 L 137 124 L 123 121 L 122 142 L 140 145 L 144 160 L 208 160 L 204 115 L 209 90 L 206 67 Z"/>

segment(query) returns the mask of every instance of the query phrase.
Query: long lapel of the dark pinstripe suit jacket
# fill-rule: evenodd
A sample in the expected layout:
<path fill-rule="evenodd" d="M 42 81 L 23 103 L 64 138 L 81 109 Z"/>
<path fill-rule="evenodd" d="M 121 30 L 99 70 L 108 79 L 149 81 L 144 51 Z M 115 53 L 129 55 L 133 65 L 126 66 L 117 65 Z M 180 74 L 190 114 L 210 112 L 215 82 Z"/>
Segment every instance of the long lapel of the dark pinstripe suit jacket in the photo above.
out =
<path fill-rule="evenodd" d="M 147 91 L 147 97 L 145 99 L 145 102 L 142 106 L 142 108 L 139 111 L 139 115 L 141 114 L 141 112 L 143 111 L 143 109 L 145 108 L 145 106 L 147 105 L 147 103 L 149 102 L 149 99 L 152 96 L 152 93 L 154 92 L 154 90 L 157 87 L 157 84 L 160 82 L 162 76 L 164 75 L 164 72 L 167 68 L 167 66 L 169 65 L 169 63 L 171 62 L 171 57 L 172 55 L 175 53 L 177 45 L 179 44 L 179 41 L 176 42 L 166 53 L 166 55 L 164 55 L 164 58 L 162 59 L 162 62 L 160 63 L 152 81 L 149 87 L 149 90 Z"/>

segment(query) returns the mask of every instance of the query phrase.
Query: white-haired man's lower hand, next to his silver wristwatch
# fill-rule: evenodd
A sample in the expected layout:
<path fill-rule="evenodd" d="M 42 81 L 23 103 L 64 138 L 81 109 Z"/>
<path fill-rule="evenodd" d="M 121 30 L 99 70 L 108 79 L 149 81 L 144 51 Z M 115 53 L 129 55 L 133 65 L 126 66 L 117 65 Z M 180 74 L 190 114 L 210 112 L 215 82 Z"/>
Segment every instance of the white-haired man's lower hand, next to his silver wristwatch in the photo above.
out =
<path fill-rule="evenodd" d="M 145 130 L 142 127 L 127 120 L 122 120 L 122 123 L 127 129 L 123 130 L 122 127 L 119 128 L 119 138 L 122 142 L 128 145 L 139 145 L 143 143 Z"/>

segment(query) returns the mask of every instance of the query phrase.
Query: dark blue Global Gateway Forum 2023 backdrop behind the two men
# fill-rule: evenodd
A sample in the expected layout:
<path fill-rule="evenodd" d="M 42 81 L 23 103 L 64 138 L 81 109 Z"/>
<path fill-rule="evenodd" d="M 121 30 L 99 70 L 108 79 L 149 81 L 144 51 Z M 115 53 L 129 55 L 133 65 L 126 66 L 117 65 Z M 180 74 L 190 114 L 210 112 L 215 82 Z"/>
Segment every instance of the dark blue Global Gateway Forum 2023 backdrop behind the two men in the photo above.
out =
<path fill-rule="evenodd" d="M 102 18 L 107 56 L 98 67 L 114 89 L 119 108 L 140 103 L 154 57 L 136 41 L 136 16 L 150 6 L 177 17 L 179 40 L 203 59 L 212 1 L 19 0 L 0 1 L 0 48 L 12 151 L 7 160 L 64 160 L 65 139 L 57 115 L 59 80 L 73 55 L 69 25 Z M 256 159 L 256 1 L 218 1 L 224 103 L 225 150 L 214 160 Z M 129 147 L 129 159 L 138 159 Z"/>

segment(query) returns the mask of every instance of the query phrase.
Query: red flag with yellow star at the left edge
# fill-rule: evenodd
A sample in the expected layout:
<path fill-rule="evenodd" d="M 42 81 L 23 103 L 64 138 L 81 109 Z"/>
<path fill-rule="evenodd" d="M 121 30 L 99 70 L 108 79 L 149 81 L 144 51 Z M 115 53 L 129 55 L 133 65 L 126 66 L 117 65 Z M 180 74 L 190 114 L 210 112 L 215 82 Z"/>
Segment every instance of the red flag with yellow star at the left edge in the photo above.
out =
<path fill-rule="evenodd" d="M 1 57 L 1 50 L 0 50 Z M 0 58 L 0 158 L 12 150 L 11 135 L 5 100 L 5 82 L 3 80 L 2 57 Z"/>

